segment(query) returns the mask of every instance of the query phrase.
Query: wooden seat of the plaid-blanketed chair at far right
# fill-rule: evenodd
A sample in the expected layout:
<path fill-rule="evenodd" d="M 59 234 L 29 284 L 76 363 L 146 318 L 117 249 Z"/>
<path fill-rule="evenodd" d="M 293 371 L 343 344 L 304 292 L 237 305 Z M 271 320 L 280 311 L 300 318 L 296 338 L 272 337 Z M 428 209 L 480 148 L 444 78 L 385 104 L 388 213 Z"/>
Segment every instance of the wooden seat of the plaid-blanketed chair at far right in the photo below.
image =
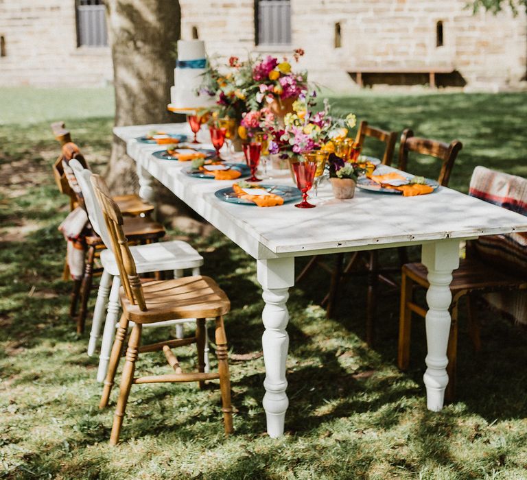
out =
<path fill-rule="evenodd" d="M 415 283 L 428 289 L 428 269 L 422 263 L 407 263 L 403 265 L 403 273 L 408 275 Z M 519 278 L 511 274 L 504 274 L 493 267 L 484 265 L 478 261 L 461 261 L 457 270 L 452 272 L 452 283 L 450 290 L 453 294 L 458 291 L 511 288 L 526 283 L 525 278 Z"/>

